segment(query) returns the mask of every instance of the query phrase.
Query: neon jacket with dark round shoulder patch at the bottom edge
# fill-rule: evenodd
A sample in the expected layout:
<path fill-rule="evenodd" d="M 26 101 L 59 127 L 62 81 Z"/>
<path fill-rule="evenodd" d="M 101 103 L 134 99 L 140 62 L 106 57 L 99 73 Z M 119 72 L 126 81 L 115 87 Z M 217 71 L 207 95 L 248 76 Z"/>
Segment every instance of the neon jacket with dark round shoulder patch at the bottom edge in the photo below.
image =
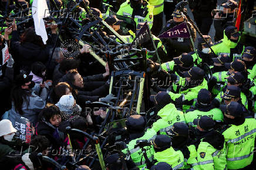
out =
<path fill-rule="evenodd" d="M 208 142 L 200 142 L 197 148 L 197 162 L 191 164 L 193 169 L 227 169 L 225 145 L 217 150 Z"/>

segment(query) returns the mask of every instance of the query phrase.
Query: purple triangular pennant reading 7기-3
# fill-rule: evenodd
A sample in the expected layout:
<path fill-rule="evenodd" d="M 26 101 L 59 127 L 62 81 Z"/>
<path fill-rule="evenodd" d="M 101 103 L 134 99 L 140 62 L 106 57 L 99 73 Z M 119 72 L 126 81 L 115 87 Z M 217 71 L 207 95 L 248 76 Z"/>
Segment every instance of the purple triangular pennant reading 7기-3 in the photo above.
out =
<path fill-rule="evenodd" d="M 158 38 L 190 38 L 190 33 L 186 22 L 183 22 L 162 33 Z"/>

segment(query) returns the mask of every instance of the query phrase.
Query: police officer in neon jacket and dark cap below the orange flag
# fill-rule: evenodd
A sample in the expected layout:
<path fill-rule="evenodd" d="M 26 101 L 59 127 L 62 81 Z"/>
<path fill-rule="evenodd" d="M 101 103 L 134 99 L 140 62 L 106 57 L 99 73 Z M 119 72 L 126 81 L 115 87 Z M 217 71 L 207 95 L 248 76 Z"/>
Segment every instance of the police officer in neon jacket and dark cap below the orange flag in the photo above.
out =
<path fill-rule="evenodd" d="M 235 26 L 228 26 L 225 28 L 223 35 L 224 38 L 215 42 L 211 49 L 213 49 L 215 55 L 219 56 L 224 53 L 230 57 L 231 61 L 234 61 L 235 57 L 240 57 L 244 50 L 244 46 L 239 43 L 240 33 Z"/>

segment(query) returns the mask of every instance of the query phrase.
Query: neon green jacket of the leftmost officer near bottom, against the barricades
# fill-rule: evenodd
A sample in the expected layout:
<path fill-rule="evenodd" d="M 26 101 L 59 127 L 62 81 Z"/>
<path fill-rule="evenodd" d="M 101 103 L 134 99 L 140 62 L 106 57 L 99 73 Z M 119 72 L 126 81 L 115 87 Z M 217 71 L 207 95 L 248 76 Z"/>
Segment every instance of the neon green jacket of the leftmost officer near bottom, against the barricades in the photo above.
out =
<path fill-rule="evenodd" d="M 127 144 L 127 148 L 123 149 L 122 152 L 124 154 L 129 153 L 134 164 L 136 164 L 136 166 L 139 168 L 143 168 L 144 166 L 146 166 L 146 161 L 143 156 L 142 149 L 139 147 L 134 148 L 134 146 L 136 145 L 137 140 L 150 141 L 150 140 L 154 140 L 154 138 L 156 138 L 156 132 L 154 130 L 148 129 L 142 137 L 130 141 L 129 144 Z M 144 147 L 144 148 L 146 148 L 146 153 L 147 153 L 147 157 L 149 158 L 149 160 L 153 161 L 153 155 L 154 155 L 153 145 L 150 147 Z"/>

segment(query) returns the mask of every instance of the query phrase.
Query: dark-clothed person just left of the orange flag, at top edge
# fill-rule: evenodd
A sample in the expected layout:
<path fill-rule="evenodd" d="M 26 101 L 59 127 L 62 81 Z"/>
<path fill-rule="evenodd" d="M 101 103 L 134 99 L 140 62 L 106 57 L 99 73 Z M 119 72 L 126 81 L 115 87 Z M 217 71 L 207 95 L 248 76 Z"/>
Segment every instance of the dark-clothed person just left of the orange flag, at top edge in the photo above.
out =
<path fill-rule="evenodd" d="M 238 7 L 237 2 L 228 0 L 225 4 L 222 4 L 223 11 L 219 11 L 214 15 L 214 28 L 215 28 L 215 42 L 223 39 L 223 30 L 228 26 L 235 25 L 235 8 Z M 212 13 L 213 14 L 213 13 Z M 225 35 L 224 35 L 225 37 Z"/>

